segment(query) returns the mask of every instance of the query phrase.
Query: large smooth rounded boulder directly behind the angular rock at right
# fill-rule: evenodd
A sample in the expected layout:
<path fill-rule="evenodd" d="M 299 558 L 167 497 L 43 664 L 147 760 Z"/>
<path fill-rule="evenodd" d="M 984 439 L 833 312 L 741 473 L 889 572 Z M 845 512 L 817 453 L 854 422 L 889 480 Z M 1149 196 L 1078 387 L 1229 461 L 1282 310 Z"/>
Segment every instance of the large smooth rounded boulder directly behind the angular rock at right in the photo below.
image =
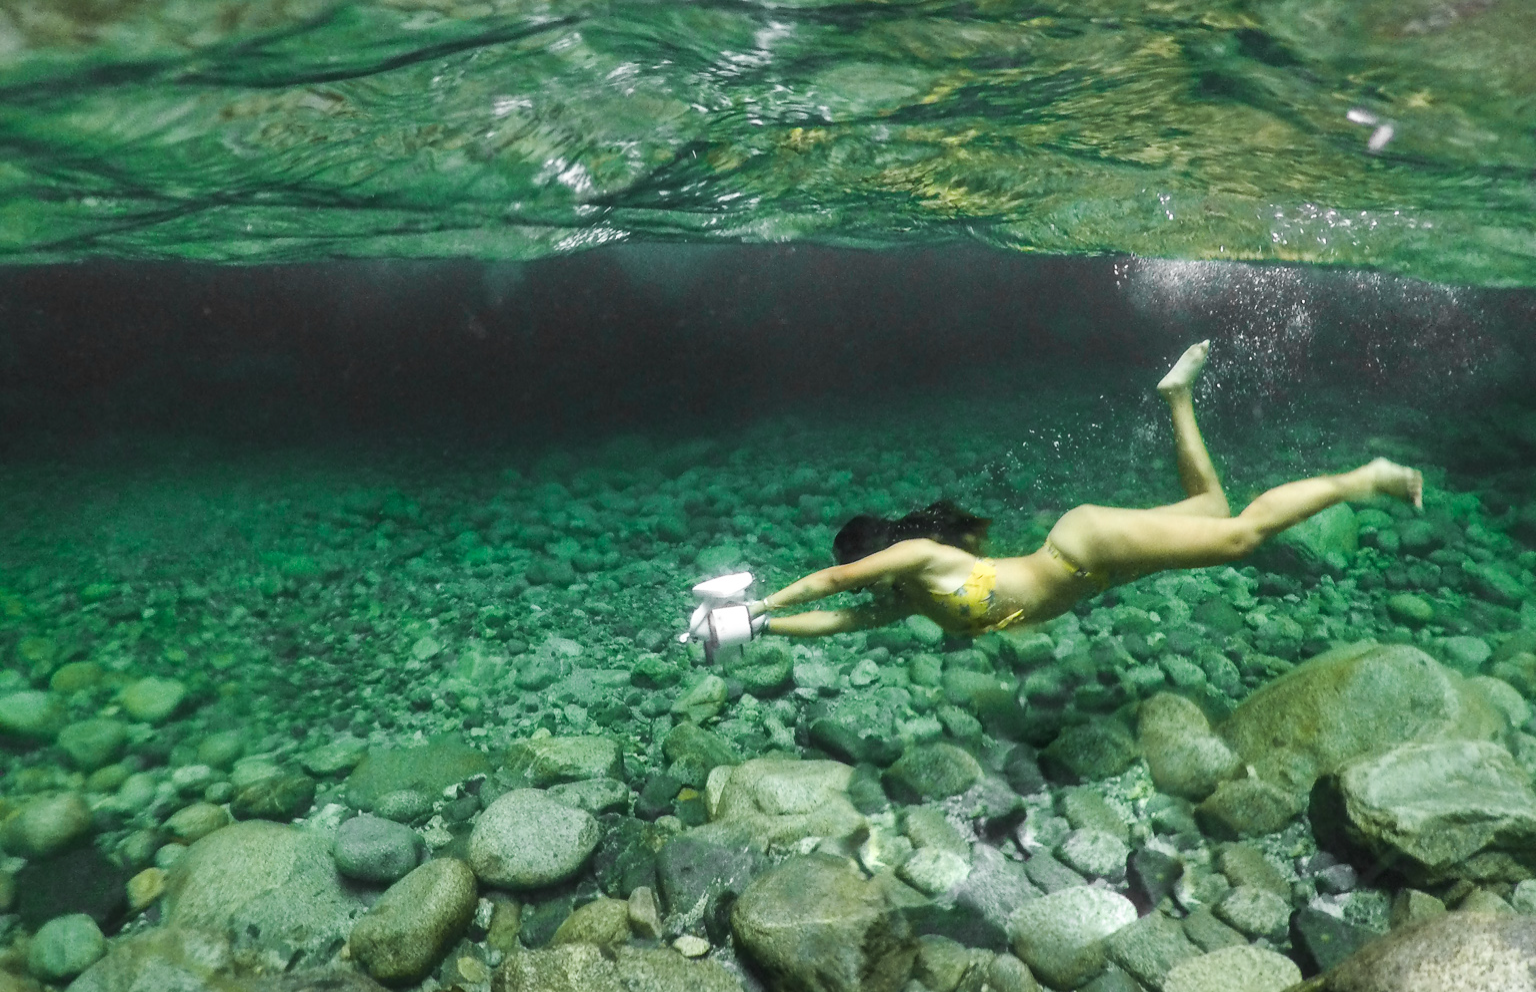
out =
<path fill-rule="evenodd" d="M 1298 665 L 1217 731 L 1261 779 L 1303 795 L 1353 757 L 1413 740 L 1485 740 L 1507 726 L 1428 654 L 1361 642 Z"/>

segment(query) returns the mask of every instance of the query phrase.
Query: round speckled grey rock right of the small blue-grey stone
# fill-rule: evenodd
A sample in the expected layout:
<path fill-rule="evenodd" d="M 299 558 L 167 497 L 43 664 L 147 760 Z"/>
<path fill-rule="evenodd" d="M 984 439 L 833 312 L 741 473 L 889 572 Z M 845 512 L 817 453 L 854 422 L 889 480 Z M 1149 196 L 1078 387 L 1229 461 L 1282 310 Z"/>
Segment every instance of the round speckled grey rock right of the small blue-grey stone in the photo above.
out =
<path fill-rule="evenodd" d="M 598 846 L 598 820 L 539 789 L 515 789 L 485 808 L 468 840 L 475 877 L 536 889 L 576 874 Z"/>

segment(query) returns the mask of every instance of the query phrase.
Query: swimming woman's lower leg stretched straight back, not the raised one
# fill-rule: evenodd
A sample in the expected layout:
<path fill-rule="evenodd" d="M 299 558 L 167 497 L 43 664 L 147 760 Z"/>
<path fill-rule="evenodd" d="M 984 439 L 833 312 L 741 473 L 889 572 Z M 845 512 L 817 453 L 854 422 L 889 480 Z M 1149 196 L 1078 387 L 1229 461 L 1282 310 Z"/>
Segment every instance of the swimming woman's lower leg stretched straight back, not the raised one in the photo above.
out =
<path fill-rule="evenodd" d="M 1264 541 L 1346 499 L 1393 496 L 1422 505 L 1424 476 L 1384 458 L 1336 476 L 1286 482 L 1235 517 L 1163 510 L 1077 507 L 1049 541 L 1089 571 L 1143 576 L 1164 568 L 1203 568 L 1244 557 Z"/>

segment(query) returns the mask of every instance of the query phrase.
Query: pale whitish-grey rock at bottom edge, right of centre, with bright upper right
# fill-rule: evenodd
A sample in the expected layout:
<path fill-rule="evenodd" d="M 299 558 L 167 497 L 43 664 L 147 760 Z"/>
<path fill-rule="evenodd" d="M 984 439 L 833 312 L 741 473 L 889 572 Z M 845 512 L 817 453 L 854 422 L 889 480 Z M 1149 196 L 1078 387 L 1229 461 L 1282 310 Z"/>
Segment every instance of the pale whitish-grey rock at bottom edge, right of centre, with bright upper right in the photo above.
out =
<path fill-rule="evenodd" d="M 1104 938 L 1137 920 L 1124 895 L 1074 886 L 1018 908 L 1014 954 L 1054 989 L 1075 989 L 1104 971 Z"/>

